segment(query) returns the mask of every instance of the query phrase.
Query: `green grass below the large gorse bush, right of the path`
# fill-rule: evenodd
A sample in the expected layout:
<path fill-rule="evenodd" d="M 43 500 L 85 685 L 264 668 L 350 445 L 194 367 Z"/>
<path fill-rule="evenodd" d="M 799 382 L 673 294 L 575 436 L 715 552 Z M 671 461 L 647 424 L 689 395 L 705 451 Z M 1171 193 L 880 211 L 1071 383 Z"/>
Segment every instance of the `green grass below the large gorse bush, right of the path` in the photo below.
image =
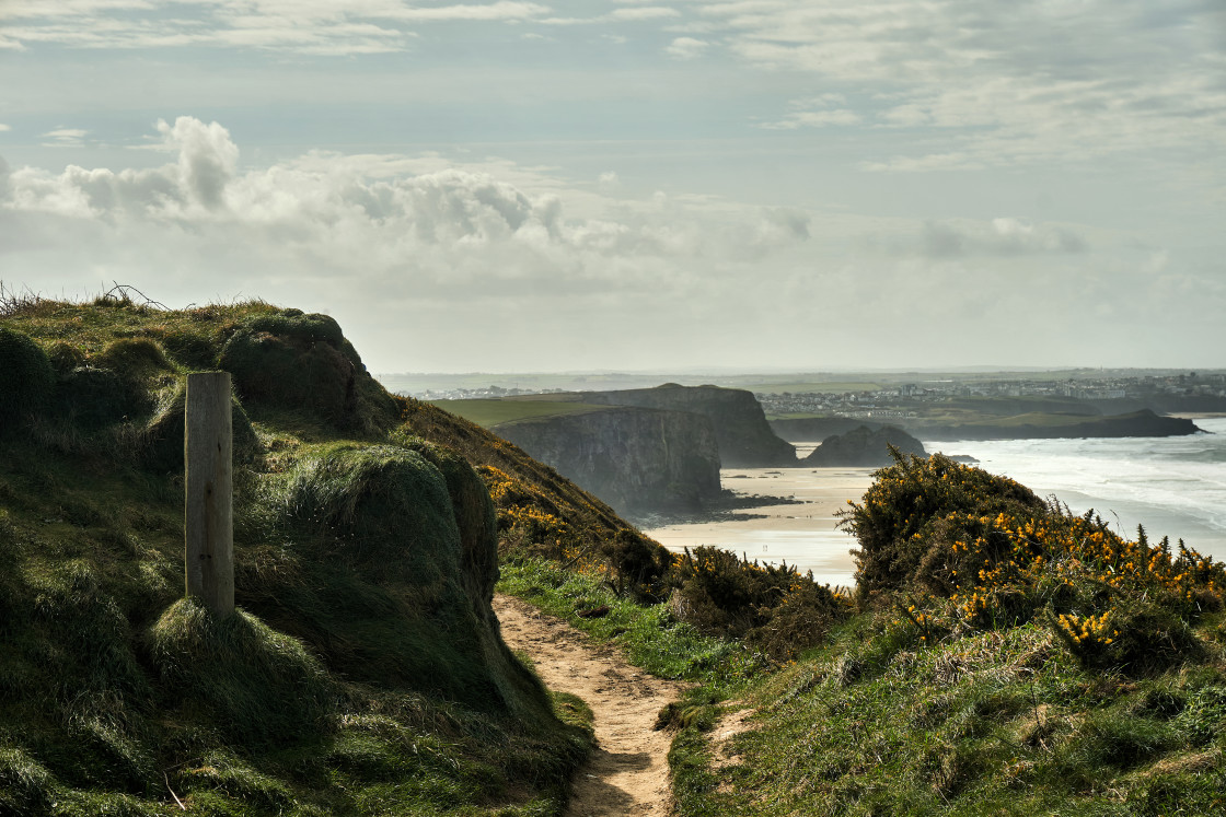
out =
<path fill-rule="evenodd" d="M 928 648 L 855 621 L 745 696 L 744 761 L 684 813 L 1224 813 L 1224 682 L 1090 671 L 1040 626 Z"/>

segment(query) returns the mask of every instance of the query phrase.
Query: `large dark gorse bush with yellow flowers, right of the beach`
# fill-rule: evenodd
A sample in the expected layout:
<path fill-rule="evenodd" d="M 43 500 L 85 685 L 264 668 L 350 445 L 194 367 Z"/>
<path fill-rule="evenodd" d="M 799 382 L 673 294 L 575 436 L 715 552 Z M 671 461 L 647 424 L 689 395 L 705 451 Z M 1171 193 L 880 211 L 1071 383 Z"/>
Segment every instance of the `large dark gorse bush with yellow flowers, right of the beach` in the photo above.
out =
<path fill-rule="evenodd" d="M 896 457 L 842 524 L 859 540 L 862 605 L 918 599 L 948 632 L 1040 616 L 1086 665 L 1160 671 L 1205 655 L 1189 625 L 1222 609 L 1226 568 L 1181 541 L 1125 540 L 1013 480 Z M 915 605 L 911 605 L 912 608 Z"/>

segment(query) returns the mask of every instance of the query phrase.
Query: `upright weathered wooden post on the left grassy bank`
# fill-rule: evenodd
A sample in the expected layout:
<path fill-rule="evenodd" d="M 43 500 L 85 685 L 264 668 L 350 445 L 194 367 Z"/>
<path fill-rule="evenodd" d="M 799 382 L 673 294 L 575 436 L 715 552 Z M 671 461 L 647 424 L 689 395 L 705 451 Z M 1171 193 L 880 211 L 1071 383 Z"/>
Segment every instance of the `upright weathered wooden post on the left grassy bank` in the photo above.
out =
<path fill-rule="evenodd" d="M 234 463 L 228 371 L 188 375 L 184 418 L 188 595 L 234 611 Z"/>

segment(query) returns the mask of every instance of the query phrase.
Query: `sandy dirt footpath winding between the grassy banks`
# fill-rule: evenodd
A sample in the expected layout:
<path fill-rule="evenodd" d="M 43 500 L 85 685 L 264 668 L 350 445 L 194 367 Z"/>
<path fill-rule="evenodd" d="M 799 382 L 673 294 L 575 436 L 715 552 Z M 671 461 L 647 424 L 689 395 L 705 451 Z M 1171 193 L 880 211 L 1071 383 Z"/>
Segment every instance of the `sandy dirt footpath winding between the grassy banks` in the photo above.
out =
<path fill-rule="evenodd" d="M 562 619 L 506 595 L 494 612 L 511 649 L 532 657 L 550 690 L 582 698 L 596 715 L 597 748 L 575 775 L 568 817 L 668 813 L 668 746 L 655 731 L 656 713 L 680 696 L 684 685 L 631 666 L 607 644 L 593 643 Z"/>

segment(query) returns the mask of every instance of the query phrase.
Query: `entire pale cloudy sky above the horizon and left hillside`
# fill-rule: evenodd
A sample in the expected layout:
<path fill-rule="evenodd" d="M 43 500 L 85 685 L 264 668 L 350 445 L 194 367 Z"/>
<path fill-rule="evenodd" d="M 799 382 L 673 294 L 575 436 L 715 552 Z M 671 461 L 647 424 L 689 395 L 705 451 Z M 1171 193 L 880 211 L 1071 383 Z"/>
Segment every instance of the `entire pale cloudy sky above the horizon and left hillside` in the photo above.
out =
<path fill-rule="evenodd" d="M 0 283 L 373 372 L 1226 366 L 1221 0 L 0 0 Z"/>

